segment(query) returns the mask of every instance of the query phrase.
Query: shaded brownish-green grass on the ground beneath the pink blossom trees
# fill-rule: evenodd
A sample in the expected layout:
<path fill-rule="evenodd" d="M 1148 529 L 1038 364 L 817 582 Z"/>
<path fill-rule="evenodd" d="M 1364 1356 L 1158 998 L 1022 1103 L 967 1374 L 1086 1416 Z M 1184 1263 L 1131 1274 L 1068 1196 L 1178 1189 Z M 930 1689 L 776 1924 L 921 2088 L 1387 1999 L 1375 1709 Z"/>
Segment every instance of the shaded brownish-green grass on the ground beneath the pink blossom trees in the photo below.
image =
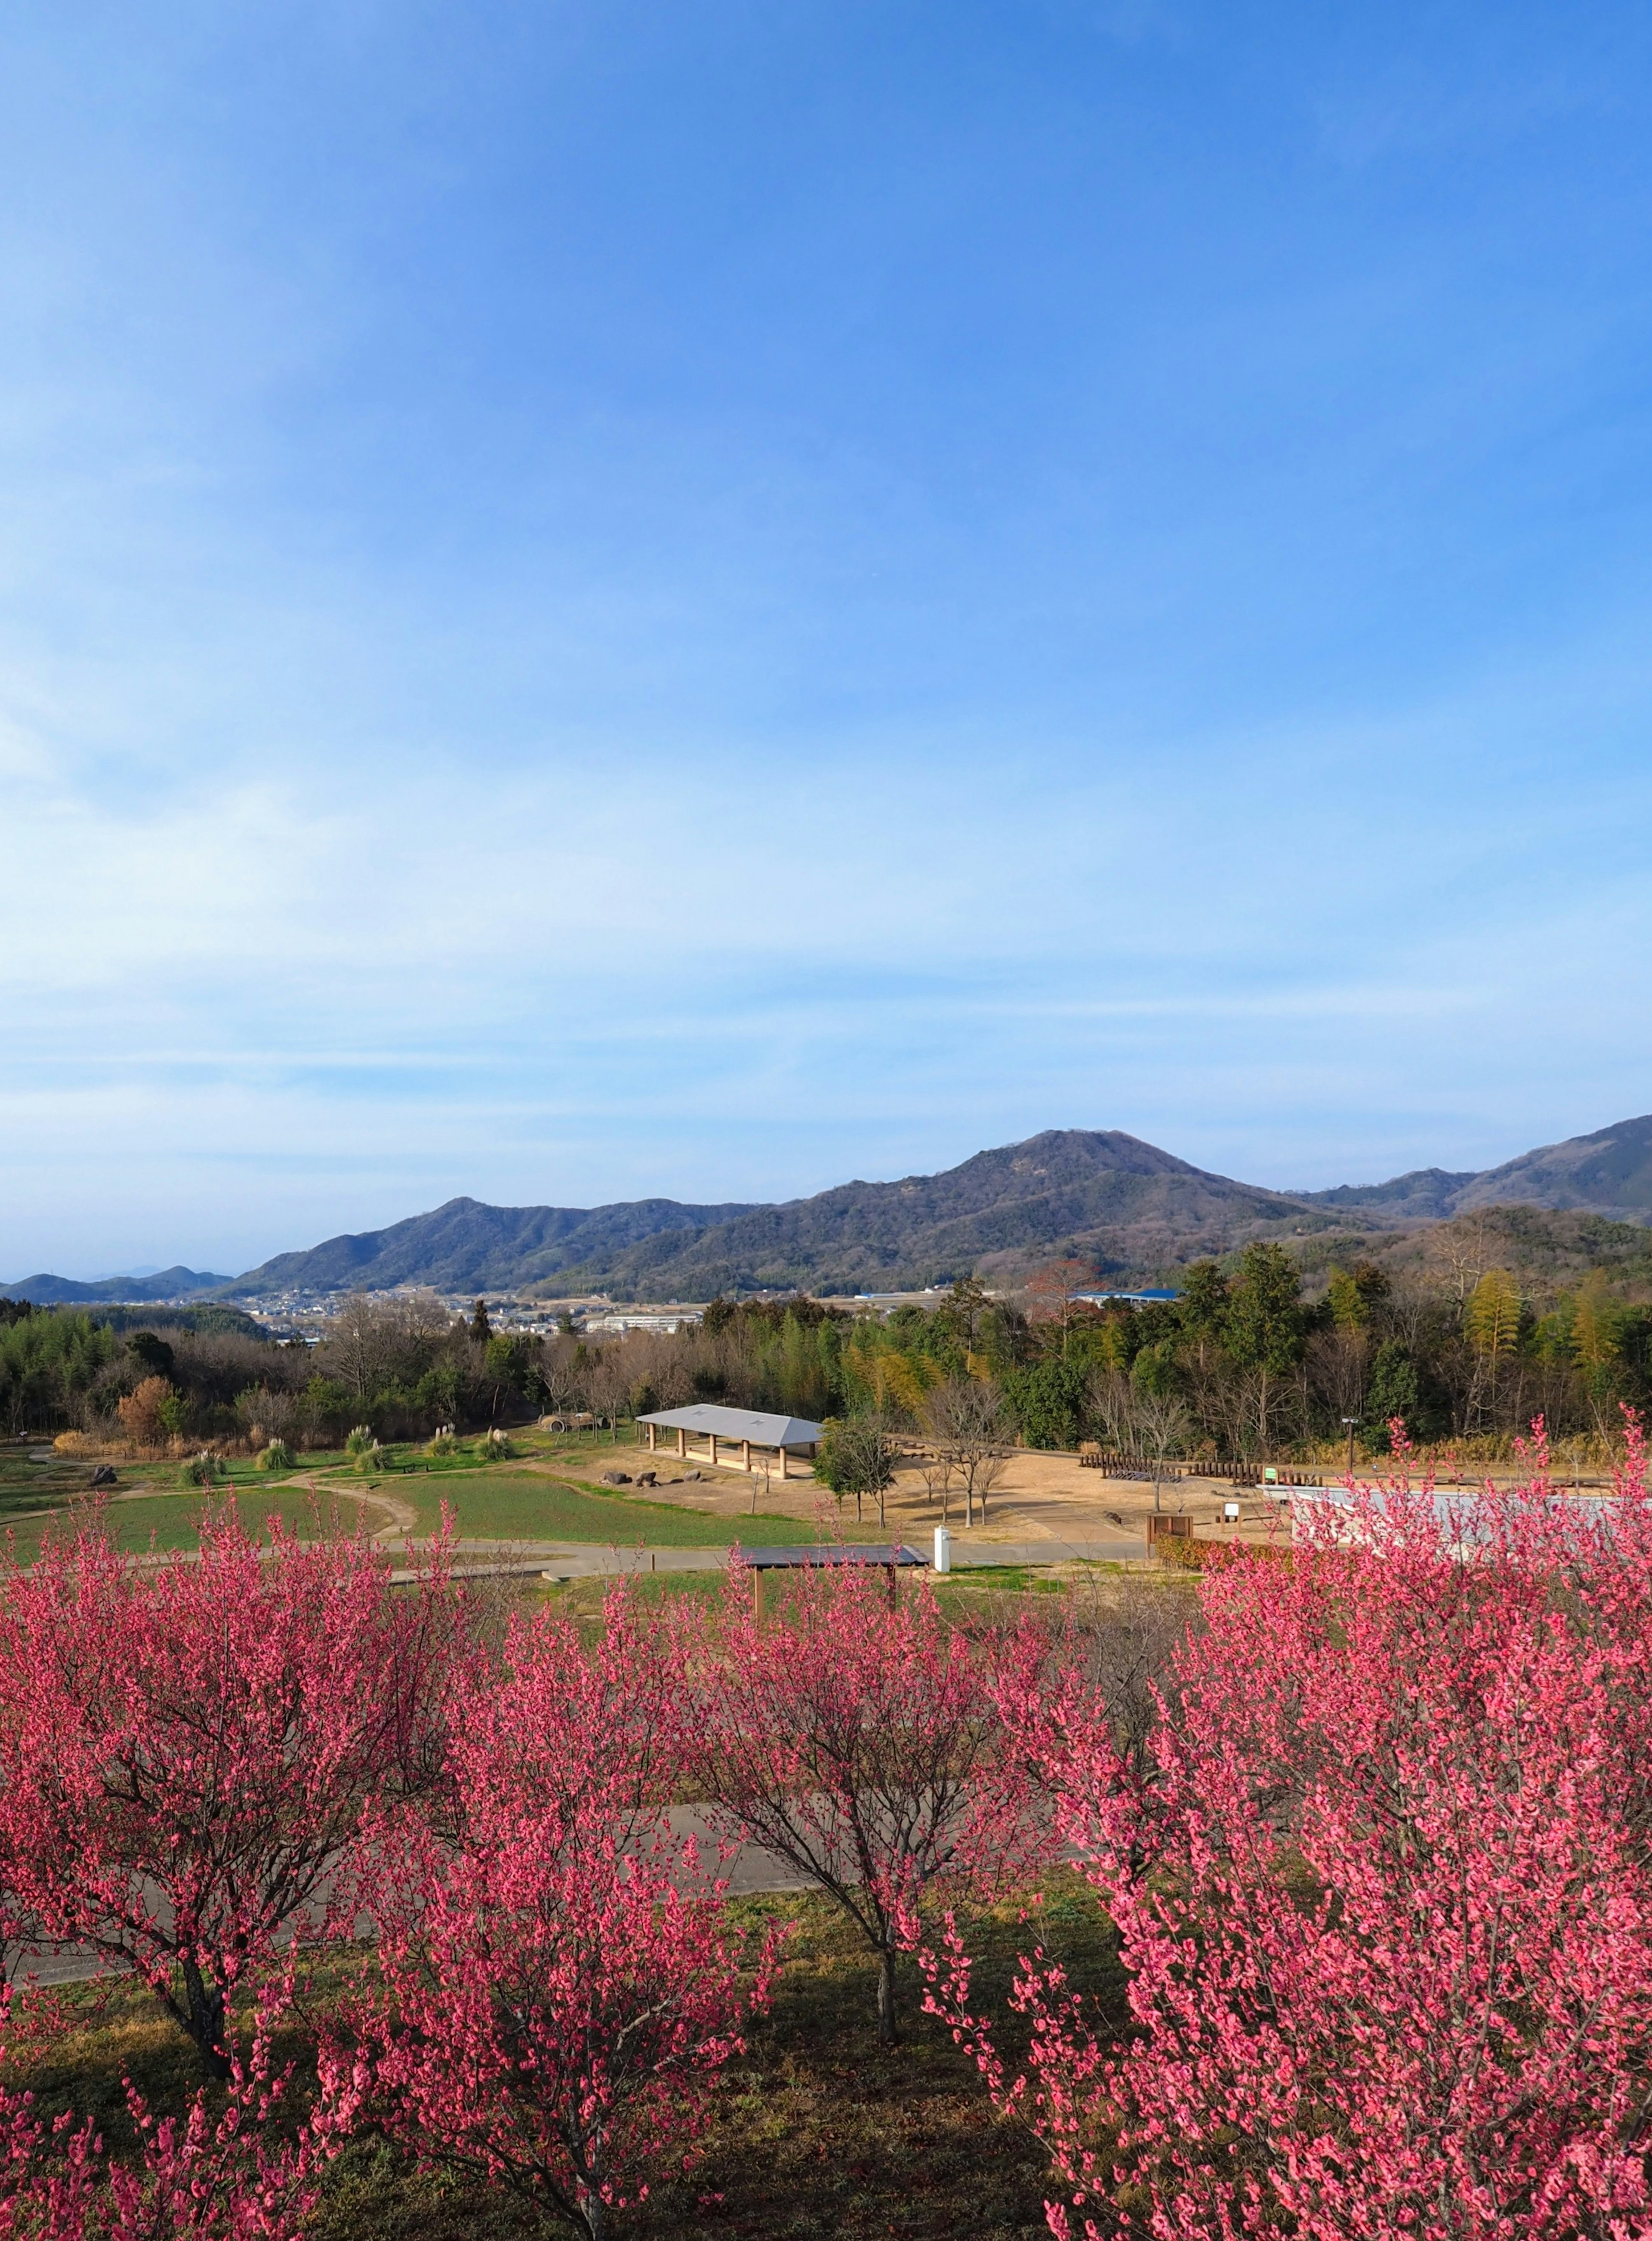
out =
<path fill-rule="evenodd" d="M 950 2033 L 919 2012 L 917 1970 L 903 1965 L 906 2039 L 883 2051 L 874 1970 L 836 1907 L 785 1894 L 737 1900 L 731 1914 L 753 1936 L 771 1921 L 793 1923 L 773 2008 L 724 2073 L 704 2156 L 616 2214 L 614 2241 L 1042 2241 L 1042 2149 L 993 2116 Z M 1015 1954 L 1036 1941 L 1065 1961 L 1076 1988 L 1123 2015 L 1107 1925 L 1069 1873 L 1051 1876 L 1036 1925 L 1004 1907 L 973 1927 L 977 2006 L 1004 2015 Z M 121 2068 L 161 2111 L 197 2082 L 184 2035 L 130 1986 L 114 1988 L 103 2012 L 92 1988 L 72 1988 L 63 2008 L 67 2030 L 7 2073 L 9 2084 L 34 2086 L 43 2116 L 90 2111 L 112 2142 L 126 2140 Z M 1013 2019 L 1004 2044 L 1020 2044 Z M 303 2033 L 285 2053 L 303 2068 Z M 316 2241 L 516 2241 L 536 2228 L 500 2189 L 421 2176 L 368 2133 L 332 2167 L 312 2232 Z"/>

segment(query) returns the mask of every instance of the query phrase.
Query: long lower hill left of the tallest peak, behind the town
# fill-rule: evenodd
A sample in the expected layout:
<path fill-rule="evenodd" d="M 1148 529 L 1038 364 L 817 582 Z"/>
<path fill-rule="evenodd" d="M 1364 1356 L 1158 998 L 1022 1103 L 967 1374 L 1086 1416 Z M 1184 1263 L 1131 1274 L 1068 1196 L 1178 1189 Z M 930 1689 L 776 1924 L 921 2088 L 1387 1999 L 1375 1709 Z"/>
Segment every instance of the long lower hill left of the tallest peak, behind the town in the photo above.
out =
<path fill-rule="evenodd" d="M 679 1206 L 677 1199 L 632 1199 L 621 1206 L 484 1206 L 448 1199 L 388 1230 L 330 1237 L 307 1253 L 278 1253 L 242 1277 L 224 1277 L 226 1295 L 269 1291 L 390 1291 L 433 1284 L 437 1291 L 522 1291 L 563 1268 L 607 1266 L 659 1233 L 699 1235 L 751 1212 L 749 1206 Z"/>

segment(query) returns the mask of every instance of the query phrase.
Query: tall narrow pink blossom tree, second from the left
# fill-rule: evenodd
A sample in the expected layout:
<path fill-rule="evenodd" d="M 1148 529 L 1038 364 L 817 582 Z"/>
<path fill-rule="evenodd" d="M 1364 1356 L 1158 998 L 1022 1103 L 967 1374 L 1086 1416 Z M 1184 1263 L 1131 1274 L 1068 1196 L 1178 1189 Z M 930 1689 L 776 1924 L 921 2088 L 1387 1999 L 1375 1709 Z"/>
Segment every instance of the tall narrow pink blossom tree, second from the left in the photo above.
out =
<path fill-rule="evenodd" d="M 455 1721 L 453 1826 L 386 1831 L 381 1992 L 352 2017 L 392 2138 L 590 2241 L 688 2163 L 767 1999 L 767 1952 L 742 1992 L 722 1885 L 670 1838 L 684 1710 L 670 1638 L 623 1591 L 592 1647 L 518 1622 Z"/>

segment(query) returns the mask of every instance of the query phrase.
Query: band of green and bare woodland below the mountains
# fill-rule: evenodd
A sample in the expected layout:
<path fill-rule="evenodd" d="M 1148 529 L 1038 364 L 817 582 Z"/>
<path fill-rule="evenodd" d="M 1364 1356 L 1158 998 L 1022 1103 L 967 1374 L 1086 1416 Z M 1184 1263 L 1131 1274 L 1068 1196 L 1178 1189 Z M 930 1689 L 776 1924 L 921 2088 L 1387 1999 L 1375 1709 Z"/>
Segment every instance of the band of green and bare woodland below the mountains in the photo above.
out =
<path fill-rule="evenodd" d="M 1551 1436 L 1598 1448 L 1623 1403 L 1652 1398 L 1652 1307 L 1603 1268 L 1535 1298 L 1497 1266 L 1423 1280 L 1365 1259 L 1305 1282 L 1257 1242 L 1195 1262 L 1172 1302 L 1092 1304 L 1074 1298 L 1083 1280 L 1065 1262 L 1006 1295 L 971 1277 L 885 1318 L 805 1295 L 715 1300 L 695 1329 L 603 1345 L 572 1327 L 493 1331 L 480 1302 L 453 1318 L 428 1293 L 356 1295 L 314 1347 L 244 1318 L 132 1327 L 0 1302 L 0 1428 L 251 1452 L 556 1410 L 616 1423 L 686 1401 L 924 1428 L 937 1392 L 971 1383 L 991 1389 L 1002 1436 L 1031 1448 L 1262 1459 L 1343 1443 L 1349 1419 L 1367 1457 L 1392 1421 L 1414 1445 L 1491 1454 L 1542 1416 Z"/>

